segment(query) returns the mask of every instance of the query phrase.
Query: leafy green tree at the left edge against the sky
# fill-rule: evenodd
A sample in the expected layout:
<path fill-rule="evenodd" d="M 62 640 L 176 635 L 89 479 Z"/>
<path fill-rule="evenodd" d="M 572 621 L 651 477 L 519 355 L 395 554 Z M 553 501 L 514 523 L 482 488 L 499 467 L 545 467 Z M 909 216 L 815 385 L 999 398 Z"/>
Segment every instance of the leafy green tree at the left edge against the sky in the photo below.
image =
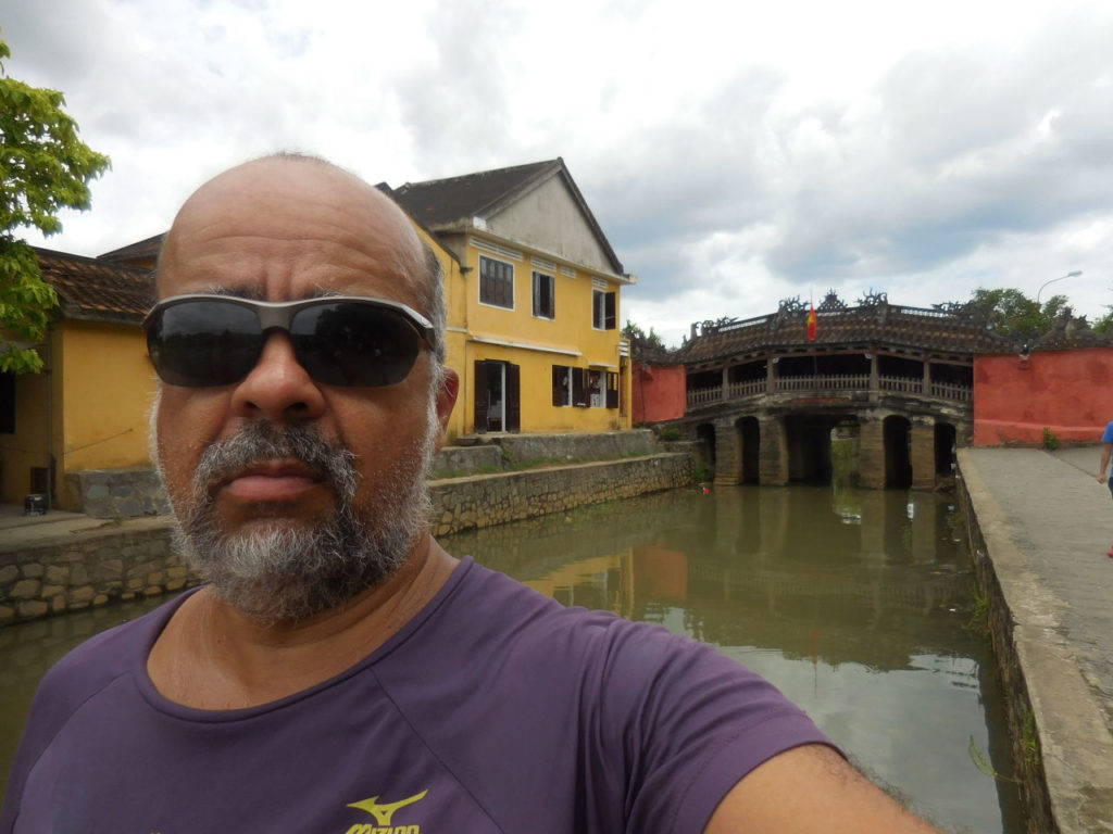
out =
<path fill-rule="evenodd" d="M 89 180 L 109 161 L 78 139 L 62 93 L 8 78 L 2 59 L 10 56 L 0 38 L 0 371 L 27 374 L 42 369 L 35 346 L 58 296 L 16 232 L 60 231 L 58 212 L 89 208 Z"/>

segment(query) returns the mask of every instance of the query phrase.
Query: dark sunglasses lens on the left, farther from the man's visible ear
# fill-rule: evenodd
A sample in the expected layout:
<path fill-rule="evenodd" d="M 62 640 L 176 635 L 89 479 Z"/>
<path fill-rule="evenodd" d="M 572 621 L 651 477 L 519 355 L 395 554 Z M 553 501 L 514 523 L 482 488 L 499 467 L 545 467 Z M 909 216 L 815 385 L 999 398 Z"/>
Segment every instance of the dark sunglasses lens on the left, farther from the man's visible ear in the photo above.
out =
<path fill-rule="evenodd" d="M 147 329 L 150 360 L 170 385 L 230 385 L 247 376 L 262 349 L 255 311 L 220 299 L 171 304 Z"/>

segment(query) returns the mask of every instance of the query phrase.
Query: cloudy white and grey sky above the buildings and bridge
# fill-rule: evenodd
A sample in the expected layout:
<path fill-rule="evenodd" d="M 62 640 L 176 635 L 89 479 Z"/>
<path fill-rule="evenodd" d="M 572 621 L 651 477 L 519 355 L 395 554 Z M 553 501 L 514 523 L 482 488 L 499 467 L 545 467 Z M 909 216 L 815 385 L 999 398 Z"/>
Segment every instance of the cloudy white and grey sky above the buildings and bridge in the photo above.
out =
<path fill-rule="evenodd" d="M 50 248 L 165 231 L 278 149 L 400 186 L 564 158 L 622 318 L 967 300 L 1113 304 L 1113 3 L 0 0 L 9 76 L 112 169 Z M 29 235 L 31 242 L 42 244 Z"/>

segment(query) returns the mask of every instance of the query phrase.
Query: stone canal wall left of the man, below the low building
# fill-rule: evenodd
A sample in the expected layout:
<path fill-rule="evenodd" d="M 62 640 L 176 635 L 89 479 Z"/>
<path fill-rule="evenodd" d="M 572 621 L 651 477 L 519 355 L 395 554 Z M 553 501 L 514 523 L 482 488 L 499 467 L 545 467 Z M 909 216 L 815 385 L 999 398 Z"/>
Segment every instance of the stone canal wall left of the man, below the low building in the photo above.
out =
<path fill-rule="evenodd" d="M 0 625 L 196 585 L 170 552 L 170 520 L 66 534 L 0 549 Z"/>

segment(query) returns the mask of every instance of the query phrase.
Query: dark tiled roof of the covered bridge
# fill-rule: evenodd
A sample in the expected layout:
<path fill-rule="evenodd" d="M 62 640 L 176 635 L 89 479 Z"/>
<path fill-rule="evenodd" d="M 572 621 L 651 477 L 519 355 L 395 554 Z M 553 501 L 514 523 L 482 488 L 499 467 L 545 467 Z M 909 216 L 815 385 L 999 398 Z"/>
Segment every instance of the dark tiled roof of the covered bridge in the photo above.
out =
<path fill-rule="evenodd" d="M 816 340 L 808 340 L 806 309 L 781 310 L 745 321 L 705 321 L 700 332 L 679 350 L 686 365 L 769 351 L 878 348 L 969 355 L 1005 353 L 1011 339 L 993 332 L 985 320 L 934 309 L 887 302 L 820 310 Z"/>

